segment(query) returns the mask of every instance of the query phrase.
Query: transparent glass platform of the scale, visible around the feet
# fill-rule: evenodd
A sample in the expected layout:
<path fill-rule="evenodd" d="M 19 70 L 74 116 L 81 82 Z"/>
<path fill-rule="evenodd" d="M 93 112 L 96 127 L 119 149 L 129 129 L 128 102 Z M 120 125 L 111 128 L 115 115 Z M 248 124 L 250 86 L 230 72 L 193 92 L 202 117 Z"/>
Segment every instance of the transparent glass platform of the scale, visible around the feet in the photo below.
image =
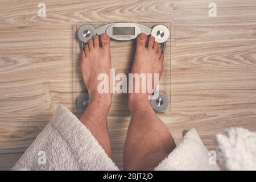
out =
<path fill-rule="evenodd" d="M 96 30 L 99 27 L 104 27 L 106 24 L 112 24 L 113 22 L 77 22 L 76 23 L 76 35 L 79 32 L 79 28 L 89 24 L 94 27 Z M 135 23 L 135 22 L 134 22 Z M 171 103 L 171 23 L 170 22 L 158 22 L 158 23 L 145 23 L 145 22 L 136 22 L 142 27 L 153 28 L 158 25 L 163 25 L 168 28 L 170 34 L 166 43 L 164 44 L 164 71 L 163 75 L 159 81 L 159 98 L 164 96 L 163 100 L 152 100 L 152 107 L 164 106 L 164 110 L 155 110 L 158 113 L 170 113 L 170 103 Z M 80 28 L 81 30 L 81 28 Z M 82 30 L 85 32 L 84 30 Z M 88 31 L 86 31 L 88 32 Z M 81 35 L 81 34 L 80 34 Z M 86 36 L 85 34 L 82 34 Z M 110 36 L 111 37 L 111 36 Z M 85 42 L 85 41 L 84 41 Z M 80 60 L 81 60 L 81 51 L 82 46 L 85 43 L 81 42 L 81 38 L 76 36 L 76 110 L 75 114 L 82 114 L 86 109 L 86 86 L 82 80 L 82 75 L 80 71 Z M 110 40 L 110 52 L 112 55 L 112 69 L 115 69 L 115 75 L 118 73 L 125 73 L 128 78 L 128 73 L 131 71 L 133 65 L 133 58 L 136 47 L 136 39 L 131 40 L 115 40 L 112 38 Z M 119 80 L 116 80 L 117 84 Z M 127 84 L 128 85 L 128 84 Z M 161 95 L 162 94 L 162 95 Z M 81 99 L 83 98 L 83 99 Z M 86 99 L 85 99 L 86 98 Z M 83 107 L 85 105 L 85 107 Z M 130 110 L 128 107 L 128 94 L 127 93 L 113 93 L 112 106 L 110 108 L 109 114 L 121 115 L 129 114 Z"/>

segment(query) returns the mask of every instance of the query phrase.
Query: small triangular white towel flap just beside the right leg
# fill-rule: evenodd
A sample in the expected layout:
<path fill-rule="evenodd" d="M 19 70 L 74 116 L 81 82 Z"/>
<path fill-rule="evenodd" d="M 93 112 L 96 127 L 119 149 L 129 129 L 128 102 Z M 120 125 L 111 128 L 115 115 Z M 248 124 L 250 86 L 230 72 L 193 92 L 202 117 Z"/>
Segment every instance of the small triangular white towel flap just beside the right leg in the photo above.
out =
<path fill-rule="evenodd" d="M 189 130 L 181 143 L 155 170 L 220 170 L 216 158 L 207 150 L 195 129 Z"/>

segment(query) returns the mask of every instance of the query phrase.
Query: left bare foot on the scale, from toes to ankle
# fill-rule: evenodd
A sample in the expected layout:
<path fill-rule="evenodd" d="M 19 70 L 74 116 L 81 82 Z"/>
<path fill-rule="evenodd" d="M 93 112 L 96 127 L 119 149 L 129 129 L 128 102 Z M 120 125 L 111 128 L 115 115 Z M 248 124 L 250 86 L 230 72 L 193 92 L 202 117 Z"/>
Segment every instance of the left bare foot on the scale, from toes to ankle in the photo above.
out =
<path fill-rule="evenodd" d="M 110 60 L 110 39 L 107 34 L 102 34 L 100 37 L 95 35 L 93 39 L 88 41 L 88 44 L 86 44 L 82 51 L 80 63 L 82 78 L 88 89 L 90 103 L 94 101 L 104 102 L 107 108 L 111 105 L 112 96 L 110 92 L 98 92 L 97 86 L 101 81 L 97 80 L 97 77 L 100 73 L 106 73 L 110 78 Z"/>

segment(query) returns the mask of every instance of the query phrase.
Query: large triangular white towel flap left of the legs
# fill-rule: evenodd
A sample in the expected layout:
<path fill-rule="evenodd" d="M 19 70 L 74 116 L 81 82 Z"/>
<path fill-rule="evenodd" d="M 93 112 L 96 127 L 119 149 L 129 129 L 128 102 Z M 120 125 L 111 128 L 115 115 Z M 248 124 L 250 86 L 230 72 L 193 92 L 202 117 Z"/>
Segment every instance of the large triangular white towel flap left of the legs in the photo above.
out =
<path fill-rule="evenodd" d="M 60 105 L 53 121 L 36 137 L 13 170 L 118 170 L 118 168 L 79 119 Z"/>

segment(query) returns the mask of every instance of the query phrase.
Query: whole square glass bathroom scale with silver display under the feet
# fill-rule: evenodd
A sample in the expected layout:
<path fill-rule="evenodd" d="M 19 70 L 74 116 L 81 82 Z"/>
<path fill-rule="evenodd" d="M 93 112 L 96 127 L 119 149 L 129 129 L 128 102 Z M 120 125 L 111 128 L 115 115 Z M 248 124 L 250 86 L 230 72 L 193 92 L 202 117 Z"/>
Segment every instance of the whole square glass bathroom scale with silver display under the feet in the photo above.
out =
<path fill-rule="evenodd" d="M 110 52 L 114 78 L 119 73 L 127 76 L 133 65 L 137 36 L 141 33 L 152 35 L 155 41 L 162 46 L 164 53 L 164 70 L 160 78 L 158 89 L 150 99 L 152 108 L 157 113 L 170 113 L 171 103 L 171 23 L 158 22 L 77 22 L 76 23 L 76 114 L 86 110 L 89 96 L 82 80 L 80 71 L 81 51 L 94 35 L 106 33 L 110 36 Z M 120 80 L 113 80 L 114 85 Z M 128 92 L 128 89 L 127 89 Z M 109 114 L 129 114 L 128 93 L 120 93 L 115 88 L 112 97 L 112 106 Z"/>

